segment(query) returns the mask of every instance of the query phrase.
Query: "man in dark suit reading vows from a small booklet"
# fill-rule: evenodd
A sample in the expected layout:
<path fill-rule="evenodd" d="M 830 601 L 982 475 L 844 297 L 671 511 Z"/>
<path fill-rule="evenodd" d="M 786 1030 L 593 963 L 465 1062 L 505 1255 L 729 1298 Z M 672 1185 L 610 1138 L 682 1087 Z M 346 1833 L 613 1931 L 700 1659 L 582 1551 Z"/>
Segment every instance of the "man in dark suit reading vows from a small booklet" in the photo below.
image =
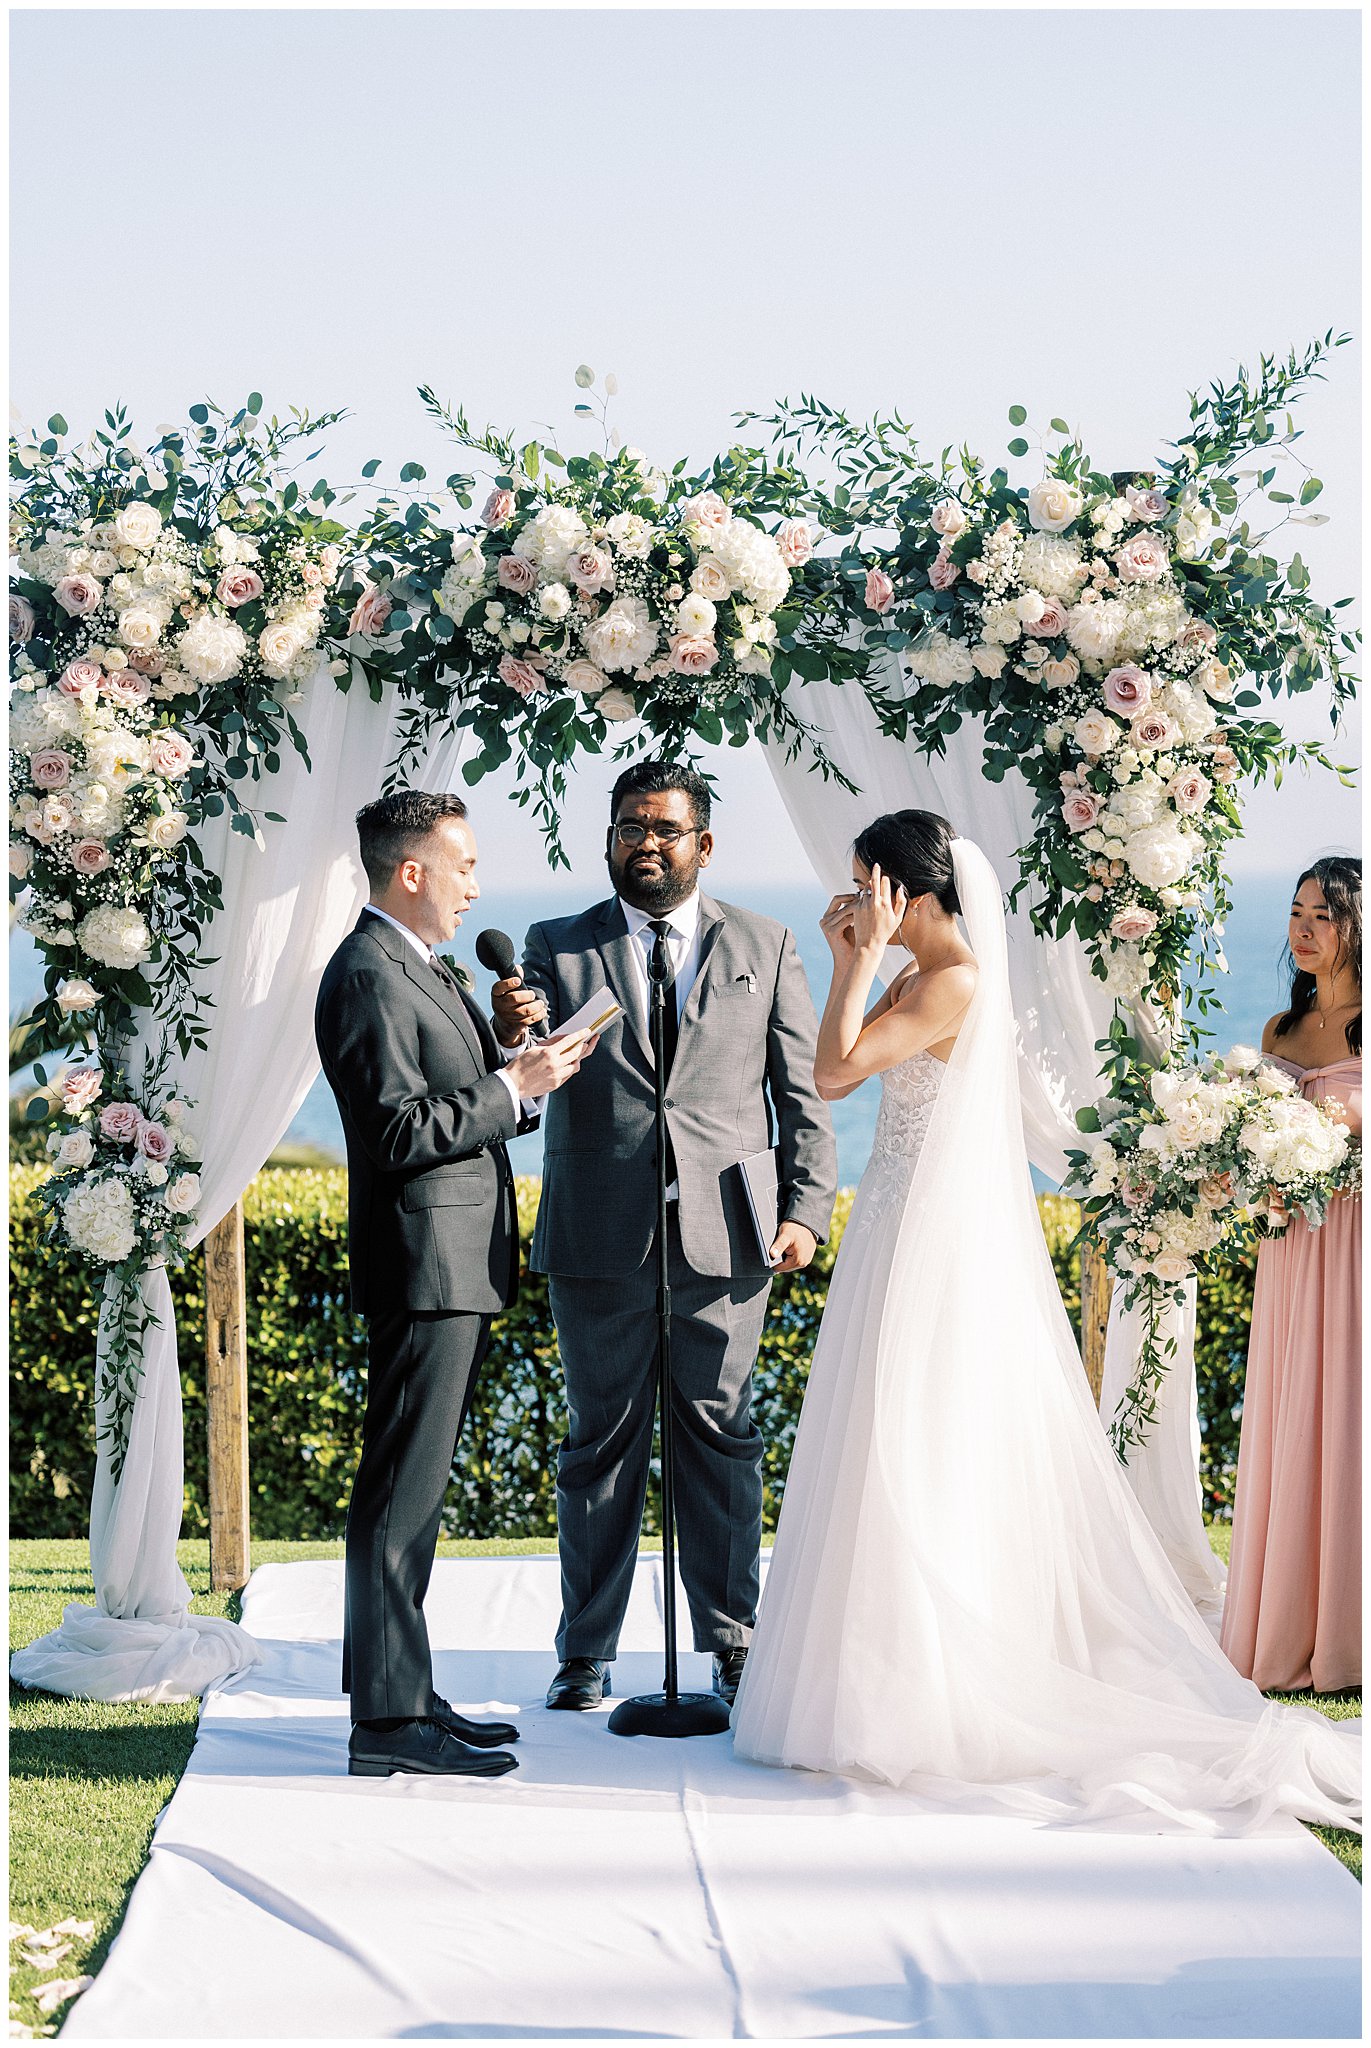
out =
<path fill-rule="evenodd" d="M 502 1057 L 434 954 L 477 899 L 461 797 L 402 788 L 357 813 L 371 901 L 324 969 L 314 1016 L 348 1147 L 352 1309 L 367 1317 L 367 1421 L 348 1505 L 342 1686 L 348 1772 L 498 1776 L 508 1722 L 432 1690 L 424 1591 L 490 1321 L 514 1300 L 504 1141 L 592 1044 Z M 523 1120 L 521 1120 L 523 1116 Z"/>

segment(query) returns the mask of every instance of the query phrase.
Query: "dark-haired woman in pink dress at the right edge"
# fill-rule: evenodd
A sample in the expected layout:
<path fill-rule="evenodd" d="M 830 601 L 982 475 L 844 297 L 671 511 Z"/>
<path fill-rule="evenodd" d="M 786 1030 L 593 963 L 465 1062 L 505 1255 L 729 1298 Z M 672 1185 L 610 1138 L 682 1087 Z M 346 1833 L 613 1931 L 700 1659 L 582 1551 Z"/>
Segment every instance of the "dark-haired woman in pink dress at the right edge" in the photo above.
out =
<path fill-rule="evenodd" d="M 1262 1053 L 1361 1137 L 1361 860 L 1316 860 L 1289 922 L 1291 1004 Z M 1223 1649 L 1262 1692 L 1361 1686 L 1361 1200 L 1293 1217 L 1256 1260 Z"/>

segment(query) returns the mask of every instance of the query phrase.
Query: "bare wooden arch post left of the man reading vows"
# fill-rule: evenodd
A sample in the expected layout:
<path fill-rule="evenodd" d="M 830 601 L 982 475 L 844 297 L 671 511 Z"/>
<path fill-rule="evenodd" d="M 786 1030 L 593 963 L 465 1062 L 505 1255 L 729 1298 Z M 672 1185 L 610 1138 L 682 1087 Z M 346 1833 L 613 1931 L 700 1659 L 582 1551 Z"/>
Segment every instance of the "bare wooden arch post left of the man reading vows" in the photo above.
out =
<path fill-rule="evenodd" d="M 248 1280 L 242 1202 L 205 1239 L 205 1411 L 209 1432 L 209 1583 L 248 1583 Z"/>

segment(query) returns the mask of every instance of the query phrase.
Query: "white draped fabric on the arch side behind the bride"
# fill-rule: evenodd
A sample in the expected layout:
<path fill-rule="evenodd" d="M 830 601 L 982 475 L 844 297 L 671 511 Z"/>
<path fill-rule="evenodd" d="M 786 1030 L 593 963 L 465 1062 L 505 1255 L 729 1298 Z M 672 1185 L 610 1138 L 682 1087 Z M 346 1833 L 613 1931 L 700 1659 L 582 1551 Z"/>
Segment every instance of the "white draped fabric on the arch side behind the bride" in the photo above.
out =
<path fill-rule="evenodd" d="M 891 696 L 900 694 L 894 657 L 881 682 Z M 795 717 L 822 737 L 834 766 L 859 788 L 859 795 L 850 795 L 838 782 L 824 780 L 807 748 L 787 760 L 777 741 L 766 745 L 781 799 L 826 889 L 838 893 L 853 887 L 850 846 L 861 827 L 883 811 L 904 809 L 941 811 L 957 831 L 982 846 L 1004 891 L 1019 881 L 1014 854 L 1033 836 L 1033 793 L 1014 770 L 1002 782 L 984 778 L 980 721 L 967 721 L 951 733 L 947 752 L 939 758 L 885 737 L 865 692 L 855 684 L 791 684 L 787 700 Z M 891 971 L 896 958 L 891 954 Z M 1111 1004 L 1105 985 L 1090 975 L 1080 938 L 1074 932 L 1057 940 L 1041 938 L 1027 909 L 1008 915 L 1008 969 L 1019 1022 L 1025 1143 L 1033 1165 L 1060 1182 L 1068 1147 L 1080 1145 L 1076 1110 L 1103 1094 L 1094 1044 L 1109 1028 Z M 1135 1362 L 1137 1319 L 1117 1313 L 1111 1317 L 1105 1356 L 1105 1419 L 1113 1417 Z M 1211 1618 L 1223 1573 L 1209 1548 L 1199 1505 L 1193 1319 L 1178 1331 L 1166 1417 L 1166 1425 L 1131 1452 L 1129 1477 L 1176 1575 Z"/>

